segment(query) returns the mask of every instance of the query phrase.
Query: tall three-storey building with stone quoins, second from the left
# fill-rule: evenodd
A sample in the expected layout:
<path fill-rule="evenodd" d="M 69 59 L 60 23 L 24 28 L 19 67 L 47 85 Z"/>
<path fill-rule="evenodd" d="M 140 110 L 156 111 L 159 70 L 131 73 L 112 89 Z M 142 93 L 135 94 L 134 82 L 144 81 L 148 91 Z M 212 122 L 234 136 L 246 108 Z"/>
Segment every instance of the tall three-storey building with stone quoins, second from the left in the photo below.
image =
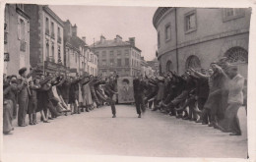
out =
<path fill-rule="evenodd" d="M 31 65 L 43 73 L 65 73 L 63 52 L 63 23 L 48 7 L 24 5 L 31 17 Z"/>

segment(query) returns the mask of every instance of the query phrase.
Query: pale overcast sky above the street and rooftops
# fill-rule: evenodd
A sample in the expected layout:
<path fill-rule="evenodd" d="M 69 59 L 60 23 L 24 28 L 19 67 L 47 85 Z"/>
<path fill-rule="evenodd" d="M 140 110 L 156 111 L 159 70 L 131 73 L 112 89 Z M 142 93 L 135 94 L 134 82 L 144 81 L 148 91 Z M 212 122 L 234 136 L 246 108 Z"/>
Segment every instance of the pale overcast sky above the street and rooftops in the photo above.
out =
<path fill-rule="evenodd" d="M 115 38 L 116 34 L 126 41 L 135 37 L 135 45 L 142 56 L 150 61 L 156 57 L 157 30 L 153 16 L 157 7 L 111 7 L 111 6 L 49 6 L 62 21 L 77 25 L 78 36 L 86 36 L 91 45 L 100 39 Z"/>

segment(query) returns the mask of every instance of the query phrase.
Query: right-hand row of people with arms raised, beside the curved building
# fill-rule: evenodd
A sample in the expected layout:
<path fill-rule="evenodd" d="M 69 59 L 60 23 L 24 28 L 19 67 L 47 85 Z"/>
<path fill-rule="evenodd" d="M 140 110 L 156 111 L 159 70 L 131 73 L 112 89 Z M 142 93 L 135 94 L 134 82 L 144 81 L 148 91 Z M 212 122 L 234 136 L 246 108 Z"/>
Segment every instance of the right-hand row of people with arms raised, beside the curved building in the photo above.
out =
<path fill-rule="evenodd" d="M 146 78 L 145 105 L 153 111 L 176 116 L 219 129 L 229 135 L 241 135 L 238 109 L 247 113 L 247 81 L 238 67 L 226 58 L 206 69 L 189 68 L 179 76 L 173 72 Z"/>

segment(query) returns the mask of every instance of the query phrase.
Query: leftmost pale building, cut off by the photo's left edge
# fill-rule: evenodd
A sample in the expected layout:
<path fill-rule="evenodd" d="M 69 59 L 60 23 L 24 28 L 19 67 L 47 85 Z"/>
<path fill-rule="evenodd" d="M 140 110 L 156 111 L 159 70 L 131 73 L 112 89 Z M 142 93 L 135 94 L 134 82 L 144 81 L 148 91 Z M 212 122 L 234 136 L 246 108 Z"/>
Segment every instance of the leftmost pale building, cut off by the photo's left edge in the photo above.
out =
<path fill-rule="evenodd" d="M 18 75 L 30 71 L 30 17 L 23 4 L 7 4 L 4 16 L 4 73 Z"/>

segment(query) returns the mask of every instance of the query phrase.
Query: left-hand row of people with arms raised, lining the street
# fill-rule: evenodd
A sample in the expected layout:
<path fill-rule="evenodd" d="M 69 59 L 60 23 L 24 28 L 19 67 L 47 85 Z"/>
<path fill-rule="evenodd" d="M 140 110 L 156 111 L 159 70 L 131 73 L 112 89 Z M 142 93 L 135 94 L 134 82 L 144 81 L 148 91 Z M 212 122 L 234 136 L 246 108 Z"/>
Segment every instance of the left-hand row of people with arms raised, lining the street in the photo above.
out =
<path fill-rule="evenodd" d="M 3 133 L 10 134 L 13 130 L 12 121 L 18 118 L 18 126 L 26 127 L 27 114 L 29 124 L 36 125 L 36 113 L 40 120 L 49 120 L 69 114 L 90 112 L 104 104 L 111 105 L 115 117 L 115 101 L 117 93 L 116 76 L 106 80 L 85 74 L 71 77 L 56 72 L 36 74 L 37 68 L 27 74 L 27 68 L 19 70 L 19 77 L 3 77 Z"/>

